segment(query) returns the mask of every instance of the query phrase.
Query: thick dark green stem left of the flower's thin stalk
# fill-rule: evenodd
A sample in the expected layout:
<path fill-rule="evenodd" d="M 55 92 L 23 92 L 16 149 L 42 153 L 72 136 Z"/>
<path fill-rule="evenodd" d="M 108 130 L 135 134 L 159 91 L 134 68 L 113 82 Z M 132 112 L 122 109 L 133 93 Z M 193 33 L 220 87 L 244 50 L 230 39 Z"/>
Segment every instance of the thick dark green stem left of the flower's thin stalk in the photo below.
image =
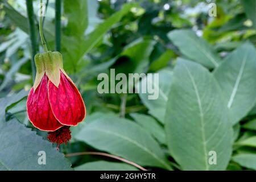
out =
<path fill-rule="evenodd" d="M 26 1 L 27 5 L 27 17 L 28 17 L 28 27 L 30 28 L 30 41 L 31 41 L 31 69 L 32 69 L 32 80 L 34 82 L 36 75 L 36 67 L 34 63 L 34 57 L 38 51 L 36 43 L 36 32 L 35 32 L 35 22 L 34 22 L 34 11 L 32 0 Z"/>

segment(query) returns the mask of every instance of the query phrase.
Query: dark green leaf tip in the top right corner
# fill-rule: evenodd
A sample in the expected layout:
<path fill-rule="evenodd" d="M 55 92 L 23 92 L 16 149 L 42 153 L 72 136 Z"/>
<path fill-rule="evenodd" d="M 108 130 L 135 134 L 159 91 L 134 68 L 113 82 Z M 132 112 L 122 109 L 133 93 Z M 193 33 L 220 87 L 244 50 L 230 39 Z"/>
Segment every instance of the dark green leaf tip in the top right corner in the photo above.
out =
<path fill-rule="evenodd" d="M 253 22 L 253 27 L 256 28 L 256 0 L 241 0 L 241 3 L 247 18 Z"/>

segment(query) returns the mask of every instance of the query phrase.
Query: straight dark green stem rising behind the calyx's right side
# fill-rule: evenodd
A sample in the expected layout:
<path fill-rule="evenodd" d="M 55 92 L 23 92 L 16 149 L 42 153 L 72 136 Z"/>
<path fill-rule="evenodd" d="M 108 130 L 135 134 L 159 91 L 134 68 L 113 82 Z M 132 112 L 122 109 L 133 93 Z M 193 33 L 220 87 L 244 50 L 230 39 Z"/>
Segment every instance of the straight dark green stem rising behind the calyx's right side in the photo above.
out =
<path fill-rule="evenodd" d="M 55 0 L 55 49 L 60 52 L 61 40 L 61 0 Z"/>

